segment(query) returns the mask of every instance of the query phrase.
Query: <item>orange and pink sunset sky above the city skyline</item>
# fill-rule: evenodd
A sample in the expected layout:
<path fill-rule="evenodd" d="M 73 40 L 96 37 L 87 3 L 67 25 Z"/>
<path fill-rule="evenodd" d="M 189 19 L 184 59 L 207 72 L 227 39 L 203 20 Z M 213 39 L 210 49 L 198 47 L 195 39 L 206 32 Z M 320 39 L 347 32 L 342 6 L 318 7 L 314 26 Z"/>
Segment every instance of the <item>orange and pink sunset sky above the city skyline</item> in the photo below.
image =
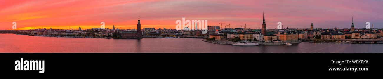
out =
<path fill-rule="evenodd" d="M 208 20 L 208 25 L 231 28 L 245 25 L 259 29 L 262 12 L 268 29 L 277 28 L 355 28 L 369 21 L 383 28 L 382 0 L 0 0 L 0 30 L 36 28 L 133 29 L 138 16 L 142 28 L 175 29 L 175 21 Z M 70 28 L 69 28 L 70 26 Z M 222 27 L 221 27 L 222 28 Z"/>

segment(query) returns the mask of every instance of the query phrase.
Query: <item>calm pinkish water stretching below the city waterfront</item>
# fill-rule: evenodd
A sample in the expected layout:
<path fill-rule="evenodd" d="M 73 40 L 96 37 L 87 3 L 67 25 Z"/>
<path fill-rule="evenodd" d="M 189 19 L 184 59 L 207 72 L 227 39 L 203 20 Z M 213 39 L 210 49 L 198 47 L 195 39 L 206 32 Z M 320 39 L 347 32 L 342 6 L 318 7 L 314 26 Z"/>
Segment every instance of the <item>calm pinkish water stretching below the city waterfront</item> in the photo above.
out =
<path fill-rule="evenodd" d="M 197 38 L 64 38 L 0 34 L 1 53 L 382 53 L 382 43 L 232 46 Z"/>

